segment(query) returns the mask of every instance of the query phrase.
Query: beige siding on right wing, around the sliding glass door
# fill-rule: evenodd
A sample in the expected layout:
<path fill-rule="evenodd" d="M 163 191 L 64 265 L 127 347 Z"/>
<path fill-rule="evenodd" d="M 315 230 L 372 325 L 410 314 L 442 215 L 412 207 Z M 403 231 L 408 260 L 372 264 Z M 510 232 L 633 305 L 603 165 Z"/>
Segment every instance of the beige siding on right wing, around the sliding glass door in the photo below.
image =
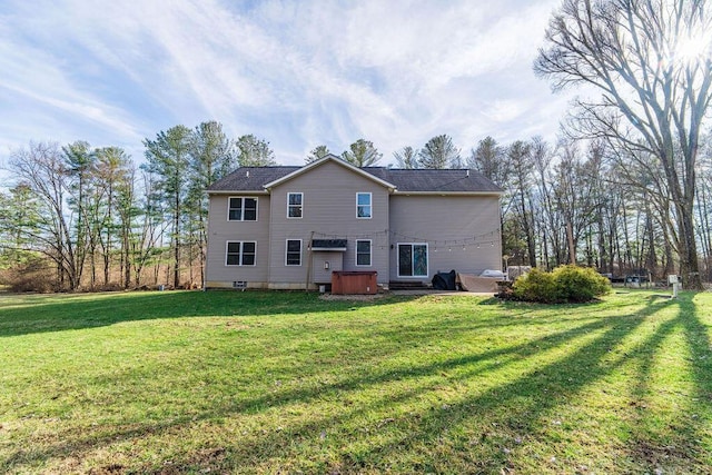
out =
<path fill-rule="evenodd" d="M 496 196 L 394 195 L 390 231 L 390 280 L 429 281 L 437 271 L 479 274 L 502 268 Z M 408 243 L 428 245 L 427 278 L 398 277 L 398 244 Z"/>

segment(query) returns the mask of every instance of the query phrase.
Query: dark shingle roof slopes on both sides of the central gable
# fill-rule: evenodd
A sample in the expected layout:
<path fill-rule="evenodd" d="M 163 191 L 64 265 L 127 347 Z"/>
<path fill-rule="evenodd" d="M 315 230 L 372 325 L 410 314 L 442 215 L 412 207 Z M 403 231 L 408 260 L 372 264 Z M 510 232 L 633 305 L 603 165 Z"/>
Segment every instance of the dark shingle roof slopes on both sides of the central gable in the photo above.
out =
<path fill-rule="evenodd" d="M 208 191 L 264 191 L 264 186 L 303 167 L 243 167 L 208 187 Z M 365 167 L 362 170 L 393 184 L 399 192 L 502 192 L 475 170 L 402 170 Z"/>

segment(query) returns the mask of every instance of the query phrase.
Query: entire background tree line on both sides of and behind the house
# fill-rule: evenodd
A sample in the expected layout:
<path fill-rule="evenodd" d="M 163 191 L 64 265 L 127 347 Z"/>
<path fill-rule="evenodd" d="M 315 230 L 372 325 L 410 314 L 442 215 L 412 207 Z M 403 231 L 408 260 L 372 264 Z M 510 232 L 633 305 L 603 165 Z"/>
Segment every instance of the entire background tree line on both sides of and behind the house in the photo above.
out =
<path fill-rule="evenodd" d="M 17 185 L 0 194 L 6 279 L 69 290 L 200 285 L 207 186 L 240 166 L 276 165 L 274 151 L 251 135 L 228 138 L 215 121 L 160 131 L 144 146 L 140 166 L 118 147 L 85 141 L 16 150 L 9 169 Z M 328 154 L 316 147 L 305 162 L 320 158 L 319 150 Z M 340 157 L 362 166 L 359 150 L 377 157 L 369 165 L 382 158 L 365 139 Z M 575 263 L 612 276 L 645 269 L 655 279 L 679 271 L 675 215 L 652 157 L 647 167 L 635 167 L 605 140 L 571 137 L 508 145 L 485 137 L 465 155 L 441 135 L 421 150 L 403 147 L 393 159 L 406 169 L 474 169 L 502 187 L 505 266 Z M 712 161 L 701 162 L 694 239 L 703 277 L 712 280 Z"/>

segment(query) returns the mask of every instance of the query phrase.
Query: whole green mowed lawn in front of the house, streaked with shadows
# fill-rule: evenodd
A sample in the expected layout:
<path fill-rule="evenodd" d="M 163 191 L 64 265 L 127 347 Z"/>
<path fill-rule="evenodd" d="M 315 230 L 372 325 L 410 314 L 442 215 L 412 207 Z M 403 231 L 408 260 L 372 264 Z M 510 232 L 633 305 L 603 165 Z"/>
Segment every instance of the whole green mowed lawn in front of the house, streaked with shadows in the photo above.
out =
<path fill-rule="evenodd" d="M 0 296 L 0 473 L 710 473 L 712 294 Z"/>

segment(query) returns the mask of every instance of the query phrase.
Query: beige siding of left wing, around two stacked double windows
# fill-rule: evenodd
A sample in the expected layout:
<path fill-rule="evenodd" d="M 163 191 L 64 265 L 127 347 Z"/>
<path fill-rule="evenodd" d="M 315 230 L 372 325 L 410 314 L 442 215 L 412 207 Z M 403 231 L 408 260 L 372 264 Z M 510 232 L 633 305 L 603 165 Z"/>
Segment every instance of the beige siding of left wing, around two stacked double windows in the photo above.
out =
<path fill-rule="evenodd" d="M 249 196 L 235 194 L 230 196 Z M 256 221 L 228 220 L 228 196 L 211 195 L 208 221 L 207 287 L 229 287 L 233 281 L 266 286 L 269 277 L 269 196 L 257 196 Z M 257 243 L 254 266 L 227 266 L 227 241 Z"/>

